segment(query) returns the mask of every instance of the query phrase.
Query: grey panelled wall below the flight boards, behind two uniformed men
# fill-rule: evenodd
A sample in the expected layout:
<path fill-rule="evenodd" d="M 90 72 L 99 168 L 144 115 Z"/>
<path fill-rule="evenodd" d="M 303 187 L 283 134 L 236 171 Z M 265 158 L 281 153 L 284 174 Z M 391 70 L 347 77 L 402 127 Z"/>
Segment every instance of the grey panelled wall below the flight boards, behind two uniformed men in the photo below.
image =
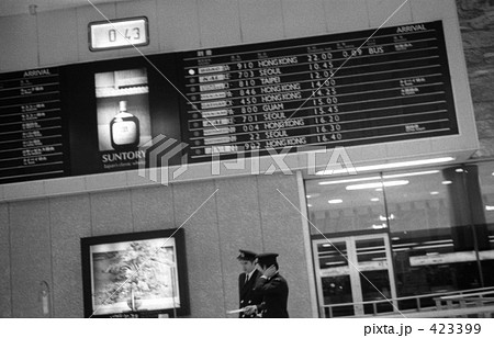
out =
<path fill-rule="evenodd" d="M 189 221 L 195 210 L 215 192 Z M 0 204 L 1 317 L 41 317 L 40 283 L 53 316 L 81 317 L 81 237 L 183 224 L 192 317 L 238 306 L 239 248 L 280 254 L 289 311 L 311 317 L 295 176 L 246 177 Z M 187 221 L 187 222 L 186 222 Z"/>

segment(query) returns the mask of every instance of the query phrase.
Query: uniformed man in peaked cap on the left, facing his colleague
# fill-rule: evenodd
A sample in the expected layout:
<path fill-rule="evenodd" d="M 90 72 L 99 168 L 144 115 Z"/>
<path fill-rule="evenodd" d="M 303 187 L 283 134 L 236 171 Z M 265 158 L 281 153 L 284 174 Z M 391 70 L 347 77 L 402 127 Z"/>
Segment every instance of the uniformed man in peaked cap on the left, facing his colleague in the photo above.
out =
<path fill-rule="evenodd" d="M 256 269 L 255 263 L 257 255 L 247 250 L 239 251 L 240 255 L 238 255 L 237 259 L 244 272 L 238 275 L 238 294 L 240 300 L 239 308 L 244 308 L 248 305 L 260 303 L 262 297 L 259 292 L 254 290 L 257 280 L 260 278 L 260 272 Z M 256 313 L 249 313 L 247 315 L 245 312 L 239 315 L 240 318 L 255 318 L 256 316 Z"/>

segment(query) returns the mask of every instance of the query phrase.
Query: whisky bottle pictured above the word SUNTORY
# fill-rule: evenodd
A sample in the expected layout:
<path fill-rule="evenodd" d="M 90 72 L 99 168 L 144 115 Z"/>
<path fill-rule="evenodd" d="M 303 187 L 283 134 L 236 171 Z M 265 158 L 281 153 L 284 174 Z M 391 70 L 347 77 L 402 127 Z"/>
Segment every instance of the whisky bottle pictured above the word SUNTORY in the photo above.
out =
<path fill-rule="evenodd" d="M 120 112 L 110 122 L 110 137 L 115 150 L 135 148 L 139 144 L 139 120 L 127 113 L 127 101 L 119 102 Z"/>

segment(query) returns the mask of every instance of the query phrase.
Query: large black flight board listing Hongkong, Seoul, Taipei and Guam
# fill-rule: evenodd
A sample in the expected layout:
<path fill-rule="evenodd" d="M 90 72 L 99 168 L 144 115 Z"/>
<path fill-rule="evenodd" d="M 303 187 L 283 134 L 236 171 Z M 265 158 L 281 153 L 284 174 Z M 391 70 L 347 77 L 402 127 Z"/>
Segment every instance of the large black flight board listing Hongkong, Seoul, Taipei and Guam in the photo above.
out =
<path fill-rule="evenodd" d="M 442 23 L 374 31 L 184 53 L 190 159 L 458 134 Z"/>

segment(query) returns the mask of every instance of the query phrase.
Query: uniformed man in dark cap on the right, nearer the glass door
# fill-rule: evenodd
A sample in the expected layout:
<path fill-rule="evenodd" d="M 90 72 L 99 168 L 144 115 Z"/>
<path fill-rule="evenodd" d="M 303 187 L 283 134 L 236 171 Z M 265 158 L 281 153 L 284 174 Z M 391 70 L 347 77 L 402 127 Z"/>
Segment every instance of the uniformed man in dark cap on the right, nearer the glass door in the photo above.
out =
<path fill-rule="evenodd" d="M 262 273 L 255 290 L 260 292 L 262 301 L 246 308 L 246 314 L 258 313 L 262 318 L 288 318 L 289 288 L 287 280 L 278 272 L 278 254 L 257 256 L 257 268 Z"/>

